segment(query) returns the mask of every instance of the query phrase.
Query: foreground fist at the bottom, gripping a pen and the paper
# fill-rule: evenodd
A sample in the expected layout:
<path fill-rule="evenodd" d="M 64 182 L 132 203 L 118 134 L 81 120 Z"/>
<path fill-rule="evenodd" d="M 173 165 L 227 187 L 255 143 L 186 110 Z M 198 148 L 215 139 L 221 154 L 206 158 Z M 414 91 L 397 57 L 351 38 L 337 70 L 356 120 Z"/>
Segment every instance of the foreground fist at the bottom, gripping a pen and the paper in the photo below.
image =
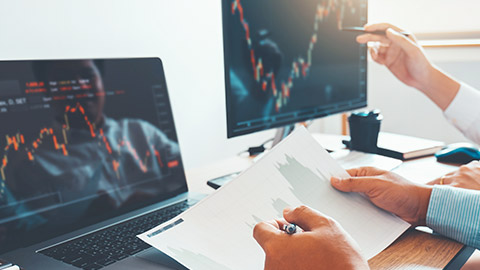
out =
<path fill-rule="evenodd" d="M 356 242 L 333 219 L 300 206 L 285 209 L 285 220 L 261 222 L 253 236 L 265 251 L 265 270 L 369 269 Z M 303 232 L 288 235 L 284 224 Z"/>

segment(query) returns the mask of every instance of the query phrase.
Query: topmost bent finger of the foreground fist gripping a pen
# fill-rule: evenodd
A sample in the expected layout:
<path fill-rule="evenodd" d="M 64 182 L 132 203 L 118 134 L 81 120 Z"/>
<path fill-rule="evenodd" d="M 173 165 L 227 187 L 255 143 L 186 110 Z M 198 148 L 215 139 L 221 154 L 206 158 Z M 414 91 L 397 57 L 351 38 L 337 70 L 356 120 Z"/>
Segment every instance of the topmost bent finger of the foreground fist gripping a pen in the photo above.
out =
<path fill-rule="evenodd" d="M 304 231 L 312 231 L 328 222 L 328 217 L 307 206 L 299 206 L 295 209 L 286 208 L 283 217 L 289 223 L 300 226 Z"/>

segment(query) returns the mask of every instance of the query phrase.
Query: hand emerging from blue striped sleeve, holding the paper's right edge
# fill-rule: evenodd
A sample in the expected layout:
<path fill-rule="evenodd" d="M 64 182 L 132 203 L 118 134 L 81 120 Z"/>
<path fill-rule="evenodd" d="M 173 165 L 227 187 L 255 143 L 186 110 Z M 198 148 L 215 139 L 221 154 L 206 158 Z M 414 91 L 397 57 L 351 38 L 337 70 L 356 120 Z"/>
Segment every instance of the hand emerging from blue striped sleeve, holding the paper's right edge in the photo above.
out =
<path fill-rule="evenodd" d="M 348 170 L 350 178 L 332 177 L 332 186 L 343 192 L 365 194 L 373 204 L 414 226 L 425 225 L 431 186 L 417 185 L 388 171 L 372 167 Z"/>

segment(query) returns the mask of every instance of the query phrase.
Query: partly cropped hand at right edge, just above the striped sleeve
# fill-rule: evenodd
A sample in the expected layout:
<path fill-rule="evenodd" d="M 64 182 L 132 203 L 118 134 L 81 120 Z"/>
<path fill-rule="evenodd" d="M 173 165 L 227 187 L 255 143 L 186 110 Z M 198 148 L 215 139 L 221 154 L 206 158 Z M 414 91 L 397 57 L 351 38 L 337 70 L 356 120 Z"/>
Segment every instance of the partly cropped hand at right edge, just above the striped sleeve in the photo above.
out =
<path fill-rule="evenodd" d="M 449 185 L 457 188 L 480 190 L 480 162 L 473 161 L 460 169 L 428 183 L 429 185 Z"/>

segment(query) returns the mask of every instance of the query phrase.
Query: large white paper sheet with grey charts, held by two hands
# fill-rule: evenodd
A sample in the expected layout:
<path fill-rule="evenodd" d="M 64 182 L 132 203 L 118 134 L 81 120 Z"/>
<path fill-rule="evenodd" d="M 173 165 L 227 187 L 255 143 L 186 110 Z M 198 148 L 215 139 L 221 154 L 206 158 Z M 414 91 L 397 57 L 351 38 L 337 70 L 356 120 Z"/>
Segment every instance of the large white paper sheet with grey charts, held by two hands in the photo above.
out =
<path fill-rule="evenodd" d="M 358 194 L 330 185 L 347 172 L 301 128 L 235 180 L 139 237 L 190 269 L 263 269 L 255 224 L 281 218 L 287 206 L 308 205 L 337 220 L 370 259 L 409 224 Z"/>

